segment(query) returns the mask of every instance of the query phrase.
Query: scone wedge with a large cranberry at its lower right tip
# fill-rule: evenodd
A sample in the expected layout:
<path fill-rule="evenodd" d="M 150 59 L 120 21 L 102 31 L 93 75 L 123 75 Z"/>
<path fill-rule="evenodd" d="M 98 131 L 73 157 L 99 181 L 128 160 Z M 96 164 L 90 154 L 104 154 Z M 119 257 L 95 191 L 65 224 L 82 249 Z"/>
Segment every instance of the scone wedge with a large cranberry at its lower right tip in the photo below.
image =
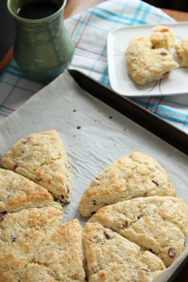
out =
<path fill-rule="evenodd" d="M 89 222 L 111 228 L 170 266 L 185 249 L 188 206 L 174 197 L 140 197 L 100 209 Z"/>

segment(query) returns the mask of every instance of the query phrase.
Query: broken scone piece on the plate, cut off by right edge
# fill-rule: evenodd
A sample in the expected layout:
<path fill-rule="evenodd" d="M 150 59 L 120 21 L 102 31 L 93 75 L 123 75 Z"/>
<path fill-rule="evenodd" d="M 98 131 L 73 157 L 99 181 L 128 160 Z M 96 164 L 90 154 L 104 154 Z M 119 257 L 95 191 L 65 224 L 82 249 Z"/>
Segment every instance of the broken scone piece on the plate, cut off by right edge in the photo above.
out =
<path fill-rule="evenodd" d="M 175 50 L 182 59 L 181 65 L 188 67 L 188 38 L 181 39 L 175 44 Z"/>

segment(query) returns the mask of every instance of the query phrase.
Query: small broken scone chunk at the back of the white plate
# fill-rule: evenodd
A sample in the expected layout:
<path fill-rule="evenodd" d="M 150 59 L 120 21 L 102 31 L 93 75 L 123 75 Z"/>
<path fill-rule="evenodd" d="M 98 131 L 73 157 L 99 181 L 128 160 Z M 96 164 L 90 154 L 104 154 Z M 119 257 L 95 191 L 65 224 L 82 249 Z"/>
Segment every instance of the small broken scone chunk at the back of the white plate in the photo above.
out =
<path fill-rule="evenodd" d="M 150 35 L 150 41 L 154 47 L 165 48 L 169 52 L 175 44 L 175 36 L 172 29 L 165 25 L 156 25 L 153 28 L 153 33 Z"/>

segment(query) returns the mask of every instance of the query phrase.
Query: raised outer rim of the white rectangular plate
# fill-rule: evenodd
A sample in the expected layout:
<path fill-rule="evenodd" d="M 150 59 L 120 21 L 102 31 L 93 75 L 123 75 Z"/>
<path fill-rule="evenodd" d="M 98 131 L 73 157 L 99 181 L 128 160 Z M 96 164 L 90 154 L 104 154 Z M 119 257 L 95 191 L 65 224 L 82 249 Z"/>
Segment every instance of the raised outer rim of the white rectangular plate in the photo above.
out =
<path fill-rule="evenodd" d="M 163 24 L 163 22 L 161 22 L 160 24 Z M 110 62 L 109 62 L 109 41 L 110 41 L 110 37 L 112 36 L 113 33 L 119 31 L 119 30 L 123 30 L 123 29 L 139 29 L 139 28 L 143 28 L 143 27 L 154 27 L 156 24 L 135 24 L 135 25 L 132 25 L 132 26 L 123 26 L 123 27 L 120 27 L 120 28 L 115 28 L 113 29 L 112 31 L 109 32 L 108 36 L 107 36 L 107 65 L 108 65 L 108 69 L 110 69 Z M 169 22 L 169 23 L 164 23 L 164 25 L 168 25 L 168 26 L 177 26 L 177 25 L 187 25 L 188 26 L 188 21 L 185 21 L 185 22 Z M 114 83 L 113 83 L 113 80 L 112 80 L 112 75 L 111 73 L 109 72 L 109 81 L 110 81 L 110 85 L 113 89 L 113 91 L 117 92 L 116 90 L 116 87 L 114 86 Z M 164 96 L 171 96 L 171 95 L 186 95 L 188 94 L 188 92 L 184 91 L 184 92 L 181 92 L 181 93 L 177 93 L 177 94 L 172 94 L 172 93 L 168 93 L 168 94 L 165 94 Z M 138 94 L 138 95 L 124 95 L 124 94 L 120 94 L 120 95 L 123 95 L 125 97 L 150 97 L 151 95 L 143 95 L 143 94 Z M 156 97 L 156 96 L 159 96 L 159 95 L 152 95 L 152 97 Z"/>

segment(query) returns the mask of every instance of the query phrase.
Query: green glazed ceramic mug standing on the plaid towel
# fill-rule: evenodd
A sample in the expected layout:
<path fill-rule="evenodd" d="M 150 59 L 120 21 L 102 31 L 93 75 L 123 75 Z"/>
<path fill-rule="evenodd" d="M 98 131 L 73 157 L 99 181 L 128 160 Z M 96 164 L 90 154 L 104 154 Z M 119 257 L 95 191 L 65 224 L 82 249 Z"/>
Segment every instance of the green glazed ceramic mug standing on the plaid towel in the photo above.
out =
<path fill-rule="evenodd" d="M 8 10 L 17 30 L 13 54 L 26 76 L 48 82 L 67 68 L 75 46 L 63 22 L 66 0 L 52 0 L 60 9 L 49 17 L 36 20 L 20 18 L 18 9 L 33 1 L 37 0 L 8 0 Z"/>

